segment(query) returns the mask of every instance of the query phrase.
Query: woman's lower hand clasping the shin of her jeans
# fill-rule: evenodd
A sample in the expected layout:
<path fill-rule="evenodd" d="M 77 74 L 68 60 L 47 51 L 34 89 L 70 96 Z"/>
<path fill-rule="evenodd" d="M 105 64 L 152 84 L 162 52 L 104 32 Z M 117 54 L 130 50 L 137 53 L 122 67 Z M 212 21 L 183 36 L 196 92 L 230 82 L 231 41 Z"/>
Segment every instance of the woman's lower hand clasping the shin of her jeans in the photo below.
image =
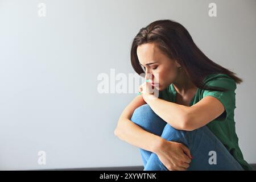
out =
<path fill-rule="evenodd" d="M 165 139 L 155 154 L 169 171 L 185 171 L 192 159 L 189 149 L 183 144 Z"/>

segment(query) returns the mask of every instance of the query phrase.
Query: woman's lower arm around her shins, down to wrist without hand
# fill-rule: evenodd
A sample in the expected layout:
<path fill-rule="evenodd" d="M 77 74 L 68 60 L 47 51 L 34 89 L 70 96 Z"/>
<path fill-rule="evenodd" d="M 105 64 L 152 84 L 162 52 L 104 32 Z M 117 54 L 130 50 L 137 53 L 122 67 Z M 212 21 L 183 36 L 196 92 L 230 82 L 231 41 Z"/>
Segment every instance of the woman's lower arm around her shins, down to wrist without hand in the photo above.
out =
<path fill-rule="evenodd" d="M 130 121 L 133 112 L 137 107 L 147 104 L 141 95 L 138 95 L 125 107 L 121 116 L 118 119 L 117 127 L 114 134 L 121 140 L 127 143 L 137 146 L 147 151 L 156 153 L 159 150 L 159 146 L 163 142 L 163 138 L 158 135 L 152 134 L 134 122 Z"/>

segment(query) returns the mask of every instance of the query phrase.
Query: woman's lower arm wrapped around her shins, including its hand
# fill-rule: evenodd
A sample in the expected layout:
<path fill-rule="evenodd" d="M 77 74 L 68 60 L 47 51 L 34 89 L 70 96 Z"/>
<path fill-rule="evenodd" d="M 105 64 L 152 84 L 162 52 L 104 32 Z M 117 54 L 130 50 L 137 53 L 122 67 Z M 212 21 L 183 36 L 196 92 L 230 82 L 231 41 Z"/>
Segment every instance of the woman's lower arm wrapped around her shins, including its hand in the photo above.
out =
<path fill-rule="evenodd" d="M 114 131 L 115 135 L 127 143 L 154 152 L 168 170 L 185 170 L 188 168 L 191 155 L 187 147 L 181 143 L 167 141 L 158 135 L 149 133 L 130 121 L 134 110 L 143 104 L 147 103 L 142 95 L 135 97 L 130 102 L 118 120 L 117 128 Z"/>

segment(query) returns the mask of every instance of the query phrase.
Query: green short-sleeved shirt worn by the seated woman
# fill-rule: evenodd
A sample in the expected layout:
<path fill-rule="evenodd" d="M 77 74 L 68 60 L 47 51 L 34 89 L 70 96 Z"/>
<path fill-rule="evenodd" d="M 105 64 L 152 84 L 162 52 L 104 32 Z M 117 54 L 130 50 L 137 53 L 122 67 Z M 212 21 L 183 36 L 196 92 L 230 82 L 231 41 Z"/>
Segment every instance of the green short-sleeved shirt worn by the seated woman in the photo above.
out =
<path fill-rule="evenodd" d="M 234 109 L 236 108 L 236 81 L 232 77 L 225 74 L 210 74 L 204 78 L 204 82 L 208 86 L 216 86 L 218 88 L 230 89 L 226 92 L 209 91 L 197 89 L 195 96 L 192 98 L 189 106 L 199 102 L 205 96 L 213 96 L 221 101 L 225 107 L 224 113 L 219 117 L 210 121 L 207 126 L 212 133 L 224 144 L 226 149 L 241 164 L 245 170 L 253 170 L 250 165 L 243 159 L 242 152 L 238 146 L 238 137 L 236 134 L 234 122 Z M 171 84 L 166 89 L 159 92 L 159 98 L 163 100 L 175 102 L 176 91 Z"/>

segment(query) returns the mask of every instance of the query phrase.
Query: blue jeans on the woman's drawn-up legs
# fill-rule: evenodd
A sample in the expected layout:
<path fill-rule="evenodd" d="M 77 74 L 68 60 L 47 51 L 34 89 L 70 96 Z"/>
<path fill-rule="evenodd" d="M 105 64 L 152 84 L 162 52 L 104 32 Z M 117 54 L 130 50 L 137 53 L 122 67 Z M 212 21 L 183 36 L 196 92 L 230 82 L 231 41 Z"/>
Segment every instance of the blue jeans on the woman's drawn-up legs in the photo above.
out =
<path fill-rule="evenodd" d="M 156 115 L 147 104 L 135 109 L 130 120 L 152 134 L 188 147 L 193 159 L 187 170 L 243 170 L 207 126 L 193 131 L 174 129 Z M 168 171 L 154 152 L 142 148 L 139 148 L 139 151 L 144 166 L 143 171 Z"/>

